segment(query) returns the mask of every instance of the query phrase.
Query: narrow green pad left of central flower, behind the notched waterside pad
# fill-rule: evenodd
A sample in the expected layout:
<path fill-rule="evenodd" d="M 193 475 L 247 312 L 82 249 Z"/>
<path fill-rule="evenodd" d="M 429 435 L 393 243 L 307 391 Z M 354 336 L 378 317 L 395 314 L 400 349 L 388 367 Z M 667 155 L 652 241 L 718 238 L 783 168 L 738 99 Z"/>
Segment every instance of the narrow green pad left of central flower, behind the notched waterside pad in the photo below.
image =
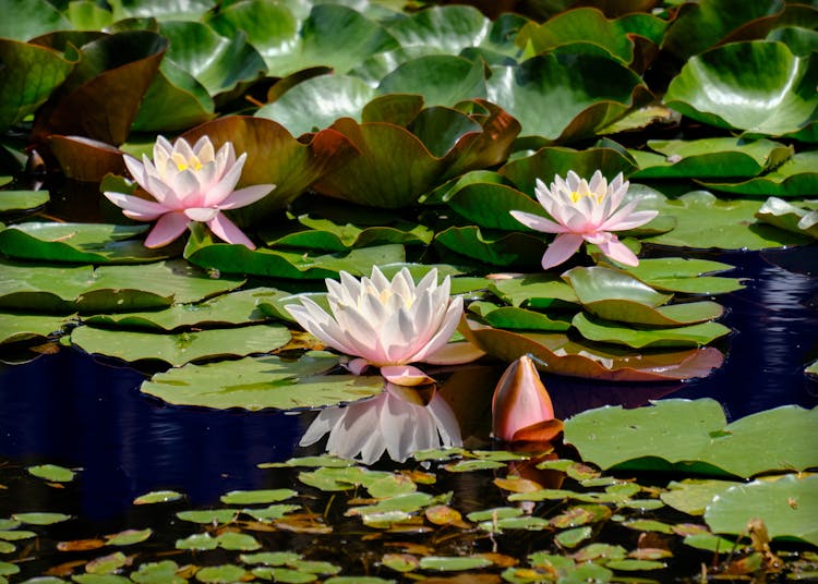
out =
<path fill-rule="evenodd" d="M 260 304 L 274 302 L 290 294 L 274 288 L 251 288 L 212 297 L 197 304 L 175 304 L 163 311 L 92 315 L 84 318 L 96 327 L 159 329 L 170 331 L 182 327 L 245 325 L 266 320 Z"/>

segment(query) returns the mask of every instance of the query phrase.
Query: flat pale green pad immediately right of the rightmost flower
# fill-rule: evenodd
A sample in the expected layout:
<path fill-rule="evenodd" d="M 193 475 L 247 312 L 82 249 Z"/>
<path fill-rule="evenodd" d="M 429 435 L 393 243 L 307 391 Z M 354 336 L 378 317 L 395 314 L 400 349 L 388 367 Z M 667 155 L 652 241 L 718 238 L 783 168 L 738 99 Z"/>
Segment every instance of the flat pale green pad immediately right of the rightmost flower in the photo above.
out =
<path fill-rule="evenodd" d="M 650 188 L 631 186 L 630 190 L 640 196 L 641 209 L 657 209 L 660 216 L 676 220 L 672 231 L 646 238 L 647 242 L 695 248 L 763 250 L 810 241 L 757 221 L 755 215 L 761 200 L 722 200 L 707 191 L 669 199 Z"/>

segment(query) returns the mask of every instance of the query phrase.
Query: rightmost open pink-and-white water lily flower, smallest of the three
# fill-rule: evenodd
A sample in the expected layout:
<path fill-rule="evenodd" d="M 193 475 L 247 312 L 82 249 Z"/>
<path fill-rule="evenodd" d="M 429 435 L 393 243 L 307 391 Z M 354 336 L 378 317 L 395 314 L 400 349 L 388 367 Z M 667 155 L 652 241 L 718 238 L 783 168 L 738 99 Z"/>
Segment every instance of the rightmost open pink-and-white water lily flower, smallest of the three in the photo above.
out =
<path fill-rule="evenodd" d="M 553 220 L 526 211 L 513 210 L 510 214 L 526 227 L 557 234 L 542 256 L 543 269 L 568 259 L 579 250 L 582 241 L 598 245 L 611 259 L 636 266 L 639 259 L 612 232 L 645 224 L 659 211 L 635 210 L 638 199 L 623 205 L 628 184 L 623 181 L 622 172 L 608 184 L 599 170 L 593 173 L 590 183 L 574 171 L 568 171 L 565 180 L 554 177 L 551 188 L 537 179 L 537 200 Z"/>

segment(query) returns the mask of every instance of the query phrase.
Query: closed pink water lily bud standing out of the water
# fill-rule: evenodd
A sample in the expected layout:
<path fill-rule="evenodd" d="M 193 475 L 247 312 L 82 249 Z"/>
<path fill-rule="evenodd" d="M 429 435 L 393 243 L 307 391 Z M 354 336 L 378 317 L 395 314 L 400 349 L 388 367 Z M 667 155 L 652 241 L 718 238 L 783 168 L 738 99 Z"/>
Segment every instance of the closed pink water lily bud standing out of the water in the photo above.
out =
<path fill-rule="evenodd" d="M 546 441 L 560 434 L 551 396 L 533 361 L 522 355 L 497 381 L 492 397 L 492 435 L 500 440 Z"/>

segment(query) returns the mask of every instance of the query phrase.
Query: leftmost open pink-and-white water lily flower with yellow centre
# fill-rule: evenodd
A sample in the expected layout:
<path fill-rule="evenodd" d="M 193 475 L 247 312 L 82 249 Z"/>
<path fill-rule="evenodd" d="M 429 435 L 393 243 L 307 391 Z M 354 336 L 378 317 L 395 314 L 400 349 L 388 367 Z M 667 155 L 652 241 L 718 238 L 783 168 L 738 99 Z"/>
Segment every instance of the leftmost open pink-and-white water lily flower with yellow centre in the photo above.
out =
<path fill-rule="evenodd" d="M 263 198 L 275 185 L 256 184 L 236 191 L 246 154 L 238 159 L 232 143 L 218 151 L 207 136 L 193 146 L 184 138 L 172 145 L 159 136 L 154 145 L 154 159 L 142 156 L 142 162 L 124 155 L 131 175 L 155 200 L 133 195 L 106 192 L 108 199 L 137 221 L 156 221 L 145 239 L 147 247 L 167 245 L 184 233 L 191 221 L 201 221 L 228 243 L 255 246 L 222 210 L 238 209 Z"/>

